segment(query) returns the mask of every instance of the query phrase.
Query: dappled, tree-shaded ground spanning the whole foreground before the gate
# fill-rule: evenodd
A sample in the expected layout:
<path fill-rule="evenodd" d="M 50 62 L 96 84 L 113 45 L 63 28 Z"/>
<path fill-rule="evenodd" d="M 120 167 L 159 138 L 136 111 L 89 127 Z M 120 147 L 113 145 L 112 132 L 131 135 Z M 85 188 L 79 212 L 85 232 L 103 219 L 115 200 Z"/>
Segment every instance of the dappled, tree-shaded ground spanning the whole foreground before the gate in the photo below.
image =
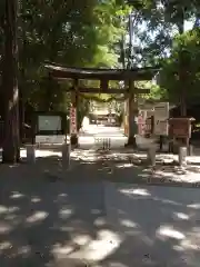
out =
<path fill-rule="evenodd" d="M 133 186 L 142 169 L 126 164 L 0 167 L 1 266 L 199 266 L 199 191 Z"/>

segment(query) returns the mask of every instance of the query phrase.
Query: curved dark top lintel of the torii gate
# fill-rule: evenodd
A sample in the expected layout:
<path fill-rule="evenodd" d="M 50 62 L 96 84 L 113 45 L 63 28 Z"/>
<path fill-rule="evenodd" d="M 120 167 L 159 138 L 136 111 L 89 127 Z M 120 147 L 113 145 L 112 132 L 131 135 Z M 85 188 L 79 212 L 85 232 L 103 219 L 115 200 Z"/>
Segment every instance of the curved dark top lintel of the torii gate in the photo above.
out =
<path fill-rule="evenodd" d="M 47 63 L 46 69 L 57 79 L 91 79 L 91 80 L 151 80 L 160 70 L 159 67 L 133 69 L 93 69 L 69 68 L 57 63 Z"/>

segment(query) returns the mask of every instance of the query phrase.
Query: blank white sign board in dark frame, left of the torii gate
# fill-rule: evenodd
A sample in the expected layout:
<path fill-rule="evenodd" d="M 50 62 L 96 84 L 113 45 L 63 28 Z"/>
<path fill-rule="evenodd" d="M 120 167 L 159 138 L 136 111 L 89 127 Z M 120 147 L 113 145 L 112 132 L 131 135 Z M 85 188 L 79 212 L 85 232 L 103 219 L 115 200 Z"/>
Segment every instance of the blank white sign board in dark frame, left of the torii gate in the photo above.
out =
<path fill-rule="evenodd" d="M 59 131 L 62 129 L 60 116 L 39 116 L 39 131 Z"/>

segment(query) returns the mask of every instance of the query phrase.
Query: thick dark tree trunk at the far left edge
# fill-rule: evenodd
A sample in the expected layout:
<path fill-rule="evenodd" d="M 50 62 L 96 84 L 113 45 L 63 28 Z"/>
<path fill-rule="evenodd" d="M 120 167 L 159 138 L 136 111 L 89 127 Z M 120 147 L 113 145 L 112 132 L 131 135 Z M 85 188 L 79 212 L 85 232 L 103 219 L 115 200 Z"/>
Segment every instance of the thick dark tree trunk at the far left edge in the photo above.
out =
<path fill-rule="evenodd" d="M 6 107 L 3 162 L 12 164 L 20 158 L 17 11 L 18 1 L 6 0 L 6 41 L 2 71 Z"/>

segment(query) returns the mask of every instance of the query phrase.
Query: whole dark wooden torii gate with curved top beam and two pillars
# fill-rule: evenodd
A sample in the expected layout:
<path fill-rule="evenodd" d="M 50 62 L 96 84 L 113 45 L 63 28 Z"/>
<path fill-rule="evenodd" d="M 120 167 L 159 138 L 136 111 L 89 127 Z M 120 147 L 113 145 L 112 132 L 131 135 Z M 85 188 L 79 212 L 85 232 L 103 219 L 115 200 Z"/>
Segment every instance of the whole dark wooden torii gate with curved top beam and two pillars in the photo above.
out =
<path fill-rule="evenodd" d="M 128 93 L 128 146 L 134 145 L 134 117 L 137 115 L 136 96 L 149 93 L 149 89 L 136 88 L 134 81 L 151 80 L 159 71 L 159 68 L 134 68 L 134 69 L 93 69 L 93 68 L 70 68 L 58 63 L 47 63 L 46 69 L 50 77 L 58 80 L 71 80 L 71 107 L 77 112 L 79 92 L 89 93 Z M 80 87 L 80 80 L 99 80 L 99 88 Z M 110 81 L 123 81 L 124 87 L 109 88 Z M 78 145 L 78 131 L 71 135 L 71 144 Z"/>

